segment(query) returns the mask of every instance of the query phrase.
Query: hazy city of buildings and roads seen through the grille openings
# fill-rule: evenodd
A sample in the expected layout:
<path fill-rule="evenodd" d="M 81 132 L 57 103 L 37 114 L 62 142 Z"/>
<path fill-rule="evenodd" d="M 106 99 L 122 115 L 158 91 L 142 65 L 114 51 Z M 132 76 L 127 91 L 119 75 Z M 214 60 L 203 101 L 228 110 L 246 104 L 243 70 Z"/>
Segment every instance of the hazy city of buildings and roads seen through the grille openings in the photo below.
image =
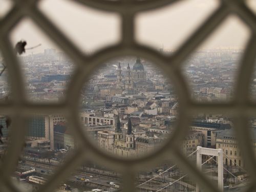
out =
<path fill-rule="evenodd" d="M 167 52 L 163 48 L 159 50 Z M 196 51 L 187 59 L 183 75 L 191 98 L 196 102 L 230 101 L 239 70 L 240 49 Z M 25 76 L 26 93 L 31 102 L 61 102 L 72 78 L 74 63 L 55 49 L 18 56 Z M 4 59 L 0 58 L 0 70 Z M 179 117 L 179 98 L 171 79 L 156 63 L 141 57 L 115 58 L 97 69 L 80 94 L 80 123 L 84 134 L 103 153 L 120 158 L 140 158 L 154 153 L 175 132 Z M 255 99 L 256 73 L 251 79 L 250 95 Z M 0 76 L 0 98 L 12 99 L 8 84 L 8 68 Z M 3 141 L 1 159 L 8 150 L 11 125 L 2 114 Z M 256 118 L 248 122 L 251 143 L 256 150 Z M 27 122 L 24 152 L 20 156 L 13 180 L 24 191 L 36 190 L 47 182 L 78 143 L 67 118 L 62 114 L 32 116 Z M 205 175 L 224 191 L 242 191 L 250 180 L 242 151 L 234 135 L 228 114 L 194 114 L 189 131 L 180 142 L 181 152 L 197 166 L 202 147 L 208 151 L 221 149 L 222 179 L 217 161 L 220 157 L 201 155 L 200 166 Z M 56 191 L 121 191 L 122 175 L 94 162 L 79 166 Z M 221 181 L 220 181 L 221 180 Z M 169 159 L 158 167 L 138 172 L 138 191 L 198 191 L 197 183 Z"/>

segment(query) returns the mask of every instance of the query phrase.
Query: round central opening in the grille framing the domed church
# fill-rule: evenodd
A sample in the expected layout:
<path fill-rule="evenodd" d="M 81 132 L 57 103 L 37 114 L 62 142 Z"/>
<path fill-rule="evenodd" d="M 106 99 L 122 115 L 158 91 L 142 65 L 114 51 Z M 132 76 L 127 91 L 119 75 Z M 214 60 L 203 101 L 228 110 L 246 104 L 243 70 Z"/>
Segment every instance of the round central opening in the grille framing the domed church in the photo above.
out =
<path fill-rule="evenodd" d="M 124 159 L 155 152 L 174 132 L 178 113 L 169 77 L 141 57 L 103 63 L 80 93 L 84 134 L 104 153 Z"/>

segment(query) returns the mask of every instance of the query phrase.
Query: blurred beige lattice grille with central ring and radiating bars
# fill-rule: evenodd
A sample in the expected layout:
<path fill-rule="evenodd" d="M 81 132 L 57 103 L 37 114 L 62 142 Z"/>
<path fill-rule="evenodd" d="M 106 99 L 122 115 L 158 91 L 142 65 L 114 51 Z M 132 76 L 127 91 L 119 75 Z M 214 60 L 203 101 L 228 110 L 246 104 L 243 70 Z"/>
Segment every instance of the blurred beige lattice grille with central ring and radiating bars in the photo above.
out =
<path fill-rule="evenodd" d="M 253 64 L 256 53 L 256 17 L 242 0 L 223 0 L 220 1 L 219 8 L 212 13 L 209 18 L 191 35 L 191 37 L 180 47 L 172 56 L 164 56 L 160 53 L 138 45 L 135 41 L 134 18 L 136 13 L 159 8 L 169 5 L 178 0 L 147 0 L 147 1 L 103 1 L 103 0 L 76 0 L 82 5 L 93 7 L 100 10 L 116 12 L 121 16 L 122 38 L 118 45 L 106 47 L 105 49 L 93 54 L 92 56 L 81 53 L 73 43 L 59 31 L 38 8 L 38 1 L 13 1 L 14 6 L 11 11 L 0 20 L 0 49 L 9 69 L 11 92 L 13 100 L 10 103 L 0 104 L 0 113 L 8 114 L 13 119 L 11 130 L 11 142 L 7 156 L 1 164 L 0 171 L 0 190 L 19 191 L 10 180 L 11 173 L 15 170 L 16 162 L 22 151 L 22 143 L 25 138 L 25 118 L 33 113 L 61 113 L 65 114 L 75 130 L 75 137 L 80 143 L 76 154 L 70 157 L 65 164 L 57 169 L 57 172 L 46 185 L 39 191 L 53 191 L 58 183 L 65 180 L 71 171 L 75 169 L 85 159 L 93 159 L 96 163 L 104 163 L 106 167 L 118 170 L 123 175 L 123 191 L 135 191 L 135 173 L 145 166 L 156 165 L 162 158 L 172 158 L 178 163 L 179 167 L 189 173 L 190 177 L 202 186 L 206 191 L 219 191 L 199 170 L 193 166 L 180 152 L 177 146 L 178 141 L 185 136 L 188 130 L 190 116 L 195 112 L 215 113 L 225 112 L 233 116 L 234 127 L 237 134 L 240 148 L 244 152 L 243 158 L 251 177 L 251 186 L 248 191 L 253 191 L 256 180 L 256 161 L 251 147 L 249 131 L 246 129 L 247 120 L 250 116 L 256 115 L 256 104 L 251 103 L 248 97 L 249 82 L 252 75 Z M 251 29 L 251 37 L 241 61 L 238 81 L 234 99 L 228 103 L 195 103 L 189 97 L 187 85 L 181 75 L 181 63 L 193 52 L 205 38 L 224 20 L 229 14 L 238 15 L 243 22 Z M 23 84 L 22 73 L 18 65 L 15 54 L 12 51 L 8 34 L 15 25 L 23 18 L 30 17 L 42 31 L 66 52 L 75 62 L 76 71 L 68 87 L 67 97 L 63 103 L 59 104 L 32 104 L 26 100 L 25 86 Z M 156 63 L 163 71 L 172 78 L 180 103 L 179 122 L 176 132 L 169 138 L 168 142 L 160 151 L 153 155 L 140 159 L 119 159 L 101 153 L 93 146 L 86 137 L 83 136 L 78 118 L 79 90 L 84 81 L 89 78 L 90 72 L 95 70 L 104 61 L 124 55 L 138 55 Z M 171 154 L 171 155 L 170 155 Z M 71 163 L 72 162 L 72 163 Z"/>

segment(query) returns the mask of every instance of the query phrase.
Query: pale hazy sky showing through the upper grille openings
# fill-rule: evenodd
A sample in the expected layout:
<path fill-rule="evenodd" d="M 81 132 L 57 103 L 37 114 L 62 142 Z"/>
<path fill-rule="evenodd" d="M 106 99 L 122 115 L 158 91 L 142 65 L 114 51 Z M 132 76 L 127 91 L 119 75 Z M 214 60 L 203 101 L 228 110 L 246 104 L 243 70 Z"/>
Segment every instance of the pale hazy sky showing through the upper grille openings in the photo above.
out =
<path fill-rule="evenodd" d="M 0 0 L 0 16 L 7 0 Z M 256 1 L 250 1 L 256 9 Z M 176 50 L 182 42 L 218 7 L 214 0 L 185 0 L 155 11 L 145 12 L 136 19 L 136 39 L 148 46 L 159 49 Z M 106 45 L 115 44 L 120 39 L 118 15 L 83 7 L 67 0 L 45 0 L 41 10 L 51 18 L 82 51 L 95 51 Z M 242 48 L 250 31 L 236 17 L 230 16 L 201 49 L 237 47 Z M 10 35 L 13 44 L 25 39 L 27 47 L 42 44 L 33 52 L 54 47 L 49 39 L 35 27 L 30 19 L 24 19 Z M 31 51 L 28 51 L 29 53 Z"/>

